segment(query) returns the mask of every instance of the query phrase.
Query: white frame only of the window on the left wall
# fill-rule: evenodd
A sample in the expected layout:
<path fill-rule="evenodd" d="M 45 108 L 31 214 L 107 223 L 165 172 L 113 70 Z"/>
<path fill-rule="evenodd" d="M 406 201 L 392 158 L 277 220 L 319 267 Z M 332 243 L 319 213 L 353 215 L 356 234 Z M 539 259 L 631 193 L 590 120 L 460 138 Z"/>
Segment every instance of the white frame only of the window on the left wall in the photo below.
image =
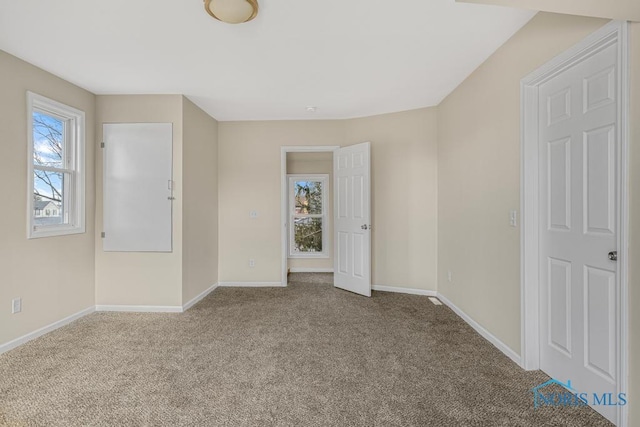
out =
<path fill-rule="evenodd" d="M 63 167 L 34 166 L 33 162 L 33 113 L 34 111 L 56 117 L 64 123 Z M 27 92 L 27 238 L 64 236 L 85 232 L 85 113 L 76 108 Z M 36 225 L 34 221 L 34 170 L 49 170 L 69 174 L 65 185 L 64 211 L 68 213 L 65 224 Z"/>

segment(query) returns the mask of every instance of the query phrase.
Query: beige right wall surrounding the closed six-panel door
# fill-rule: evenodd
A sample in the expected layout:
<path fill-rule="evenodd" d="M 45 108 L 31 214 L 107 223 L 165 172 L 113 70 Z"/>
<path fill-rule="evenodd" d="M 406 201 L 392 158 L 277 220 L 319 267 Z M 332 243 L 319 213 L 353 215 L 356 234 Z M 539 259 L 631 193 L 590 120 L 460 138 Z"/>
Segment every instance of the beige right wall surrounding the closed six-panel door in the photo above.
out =
<path fill-rule="evenodd" d="M 519 81 L 607 21 L 539 13 L 439 106 L 438 290 L 520 353 Z M 630 424 L 640 425 L 640 24 L 630 25 Z M 522 52 L 527 52 L 523 55 Z M 452 283 L 447 271 L 453 273 Z"/>

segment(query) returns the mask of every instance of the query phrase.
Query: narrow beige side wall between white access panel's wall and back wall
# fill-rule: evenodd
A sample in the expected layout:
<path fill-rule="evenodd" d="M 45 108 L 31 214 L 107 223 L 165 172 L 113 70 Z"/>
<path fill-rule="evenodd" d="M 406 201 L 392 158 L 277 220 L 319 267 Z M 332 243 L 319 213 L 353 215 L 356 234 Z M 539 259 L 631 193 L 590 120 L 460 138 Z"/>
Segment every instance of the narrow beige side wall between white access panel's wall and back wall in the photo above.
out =
<path fill-rule="evenodd" d="M 183 98 L 182 303 L 218 281 L 218 122 Z"/>

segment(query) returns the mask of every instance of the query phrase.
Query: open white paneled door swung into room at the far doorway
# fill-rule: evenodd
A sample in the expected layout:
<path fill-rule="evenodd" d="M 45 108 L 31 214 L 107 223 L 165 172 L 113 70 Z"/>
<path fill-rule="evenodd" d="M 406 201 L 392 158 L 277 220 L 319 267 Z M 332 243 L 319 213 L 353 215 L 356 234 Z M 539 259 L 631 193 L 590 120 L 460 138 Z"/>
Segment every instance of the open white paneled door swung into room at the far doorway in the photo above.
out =
<path fill-rule="evenodd" d="M 371 144 L 333 152 L 334 286 L 371 296 Z"/>

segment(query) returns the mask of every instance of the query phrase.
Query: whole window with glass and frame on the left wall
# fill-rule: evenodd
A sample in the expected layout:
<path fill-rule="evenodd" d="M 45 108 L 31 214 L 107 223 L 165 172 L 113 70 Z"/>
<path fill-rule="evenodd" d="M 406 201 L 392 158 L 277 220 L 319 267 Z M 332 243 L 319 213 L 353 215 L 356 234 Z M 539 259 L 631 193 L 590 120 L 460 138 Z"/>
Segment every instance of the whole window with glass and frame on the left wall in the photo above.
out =
<path fill-rule="evenodd" d="M 27 105 L 27 237 L 84 233 L 84 112 L 31 92 Z"/>

